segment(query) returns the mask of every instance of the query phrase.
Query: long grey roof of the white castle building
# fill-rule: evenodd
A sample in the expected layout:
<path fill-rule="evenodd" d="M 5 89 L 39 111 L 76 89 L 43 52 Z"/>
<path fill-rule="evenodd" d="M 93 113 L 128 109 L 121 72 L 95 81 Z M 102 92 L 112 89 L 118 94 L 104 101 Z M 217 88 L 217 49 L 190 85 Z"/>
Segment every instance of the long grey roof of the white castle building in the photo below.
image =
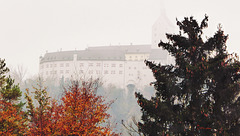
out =
<path fill-rule="evenodd" d="M 151 45 L 126 45 L 126 46 L 100 46 L 89 47 L 86 50 L 60 51 L 46 53 L 41 58 L 40 63 L 51 61 L 73 61 L 74 54 L 77 54 L 77 60 L 125 60 L 125 54 L 128 53 L 149 53 L 150 58 L 157 59 L 166 57 L 166 54 L 160 53 L 160 49 L 151 49 Z"/>

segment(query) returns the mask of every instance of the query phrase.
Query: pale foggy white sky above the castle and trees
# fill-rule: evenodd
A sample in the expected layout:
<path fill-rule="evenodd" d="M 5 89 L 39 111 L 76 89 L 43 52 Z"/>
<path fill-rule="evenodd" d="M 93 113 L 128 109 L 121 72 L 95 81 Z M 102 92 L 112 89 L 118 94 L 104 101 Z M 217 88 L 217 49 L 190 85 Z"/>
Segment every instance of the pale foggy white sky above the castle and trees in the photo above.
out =
<path fill-rule="evenodd" d="M 240 53 L 240 8 L 237 0 L 0 0 L 0 58 L 37 74 L 46 51 L 88 46 L 150 44 L 151 28 L 162 9 L 176 18 L 209 16 L 206 36 L 219 23 L 229 34 L 230 52 Z"/>

